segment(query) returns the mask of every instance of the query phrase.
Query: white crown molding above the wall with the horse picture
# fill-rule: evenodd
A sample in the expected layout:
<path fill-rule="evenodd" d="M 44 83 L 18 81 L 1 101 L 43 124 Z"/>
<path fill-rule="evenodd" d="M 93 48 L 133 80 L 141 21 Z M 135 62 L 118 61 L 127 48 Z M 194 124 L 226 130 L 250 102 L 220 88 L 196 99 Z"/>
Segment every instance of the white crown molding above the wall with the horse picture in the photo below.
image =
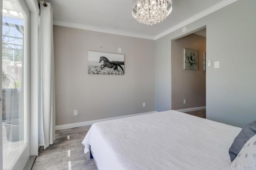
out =
<path fill-rule="evenodd" d="M 53 25 L 60 25 L 60 26 L 64 26 L 64 27 L 85 29 L 85 30 L 89 30 L 89 31 L 97 31 L 97 32 L 102 32 L 102 33 L 110 33 L 110 34 L 115 34 L 115 35 L 124 35 L 124 36 L 128 36 L 128 37 L 136 37 L 136 38 L 155 40 L 155 37 L 150 36 L 150 35 L 136 34 L 136 33 L 126 32 L 126 31 L 115 30 L 115 29 L 104 29 L 104 28 L 100 28 L 100 27 L 94 27 L 91 25 L 67 22 L 67 21 L 62 21 L 62 20 L 53 20 Z"/>

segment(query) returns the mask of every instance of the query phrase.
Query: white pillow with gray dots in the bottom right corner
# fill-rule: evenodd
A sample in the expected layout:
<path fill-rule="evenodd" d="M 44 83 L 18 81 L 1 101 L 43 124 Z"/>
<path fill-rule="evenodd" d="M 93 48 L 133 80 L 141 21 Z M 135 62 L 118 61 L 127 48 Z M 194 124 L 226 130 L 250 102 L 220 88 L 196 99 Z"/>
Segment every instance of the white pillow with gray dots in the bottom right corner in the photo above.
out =
<path fill-rule="evenodd" d="M 256 135 L 249 139 L 231 163 L 233 170 L 256 170 Z"/>

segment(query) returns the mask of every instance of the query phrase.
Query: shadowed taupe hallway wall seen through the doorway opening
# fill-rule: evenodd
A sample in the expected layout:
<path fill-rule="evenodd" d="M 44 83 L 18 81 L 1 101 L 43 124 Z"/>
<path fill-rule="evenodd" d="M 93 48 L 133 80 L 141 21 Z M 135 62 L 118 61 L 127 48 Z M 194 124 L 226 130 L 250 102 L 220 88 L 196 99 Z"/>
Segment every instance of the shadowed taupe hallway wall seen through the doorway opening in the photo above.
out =
<path fill-rule="evenodd" d="M 184 49 L 198 51 L 198 70 L 184 70 Z M 206 105 L 206 72 L 203 71 L 203 54 L 206 38 L 190 34 L 172 41 L 172 109 L 186 109 Z M 186 104 L 183 100 L 186 99 Z"/>

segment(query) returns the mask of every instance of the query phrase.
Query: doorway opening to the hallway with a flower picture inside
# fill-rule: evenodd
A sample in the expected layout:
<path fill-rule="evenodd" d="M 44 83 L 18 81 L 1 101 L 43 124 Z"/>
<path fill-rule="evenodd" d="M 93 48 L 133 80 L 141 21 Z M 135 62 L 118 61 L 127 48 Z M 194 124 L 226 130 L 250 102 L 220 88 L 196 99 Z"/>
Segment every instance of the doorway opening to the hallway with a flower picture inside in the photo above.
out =
<path fill-rule="evenodd" d="M 206 118 L 206 28 L 171 43 L 172 109 Z"/>

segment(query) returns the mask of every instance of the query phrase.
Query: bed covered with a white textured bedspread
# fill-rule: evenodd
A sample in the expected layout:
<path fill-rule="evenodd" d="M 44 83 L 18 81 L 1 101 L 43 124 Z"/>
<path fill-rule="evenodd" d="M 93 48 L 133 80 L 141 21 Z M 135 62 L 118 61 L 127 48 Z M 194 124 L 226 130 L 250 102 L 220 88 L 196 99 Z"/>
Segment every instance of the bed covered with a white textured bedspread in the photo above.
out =
<path fill-rule="evenodd" d="M 219 170 L 240 130 L 172 110 L 94 123 L 82 144 L 100 170 Z"/>

